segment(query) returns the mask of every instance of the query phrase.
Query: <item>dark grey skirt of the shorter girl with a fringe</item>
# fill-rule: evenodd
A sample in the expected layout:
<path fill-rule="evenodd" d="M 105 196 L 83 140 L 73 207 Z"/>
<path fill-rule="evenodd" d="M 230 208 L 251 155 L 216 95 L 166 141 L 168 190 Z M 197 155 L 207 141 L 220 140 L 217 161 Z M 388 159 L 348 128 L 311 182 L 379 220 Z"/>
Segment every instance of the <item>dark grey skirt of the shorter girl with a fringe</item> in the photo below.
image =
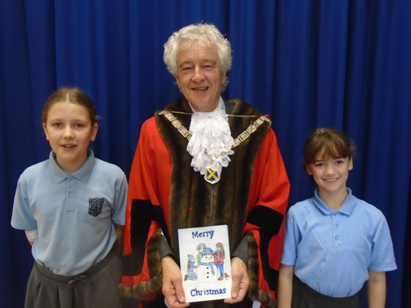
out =
<path fill-rule="evenodd" d="M 292 278 L 291 308 L 361 308 L 360 296 L 326 296 L 303 283 L 297 276 Z"/>

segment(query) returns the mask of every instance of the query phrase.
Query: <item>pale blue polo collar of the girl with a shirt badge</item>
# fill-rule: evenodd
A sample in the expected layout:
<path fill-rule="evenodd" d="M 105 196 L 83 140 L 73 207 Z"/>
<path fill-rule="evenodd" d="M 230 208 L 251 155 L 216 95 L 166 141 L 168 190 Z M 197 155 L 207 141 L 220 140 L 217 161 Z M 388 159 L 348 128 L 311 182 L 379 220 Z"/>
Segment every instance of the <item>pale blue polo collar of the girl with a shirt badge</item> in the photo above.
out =
<path fill-rule="evenodd" d="M 95 164 L 95 156 L 94 156 L 94 152 L 92 151 L 92 149 L 88 149 L 87 153 L 88 153 L 88 157 L 86 159 L 86 162 L 82 164 L 79 170 L 77 170 L 71 175 L 75 177 L 76 179 L 78 179 L 79 181 L 83 181 L 83 182 L 86 182 L 88 180 L 88 177 L 90 177 L 92 168 L 94 167 L 94 164 Z M 50 162 L 51 172 L 53 172 L 54 179 L 57 183 L 69 177 L 69 173 L 67 173 L 62 168 L 60 168 L 57 162 L 55 162 L 54 151 L 50 152 L 49 162 Z"/>

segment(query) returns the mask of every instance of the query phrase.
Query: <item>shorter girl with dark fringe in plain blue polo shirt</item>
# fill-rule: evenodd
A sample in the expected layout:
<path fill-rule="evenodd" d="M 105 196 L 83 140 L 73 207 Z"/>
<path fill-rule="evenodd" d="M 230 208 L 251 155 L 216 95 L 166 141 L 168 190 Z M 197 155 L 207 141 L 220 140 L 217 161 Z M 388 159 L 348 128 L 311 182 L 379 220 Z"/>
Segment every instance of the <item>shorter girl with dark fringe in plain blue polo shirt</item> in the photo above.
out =
<path fill-rule="evenodd" d="M 316 129 L 304 144 L 305 170 L 318 185 L 290 207 L 279 269 L 278 308 L 384 307 L 385 272 L 395 270 L 384 215 L 346 187 L 354 144 L 336 129 Z"/>

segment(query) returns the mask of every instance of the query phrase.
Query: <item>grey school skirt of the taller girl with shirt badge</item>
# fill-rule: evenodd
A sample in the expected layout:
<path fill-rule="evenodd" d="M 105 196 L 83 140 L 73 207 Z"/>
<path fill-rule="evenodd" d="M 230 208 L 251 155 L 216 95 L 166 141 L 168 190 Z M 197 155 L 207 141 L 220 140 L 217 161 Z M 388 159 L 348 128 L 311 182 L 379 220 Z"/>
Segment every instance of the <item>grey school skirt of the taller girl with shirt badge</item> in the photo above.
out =
<path fill-rule="evenodd" d="M 54 274 L 34 261 L 25 308 L 121 308 L 120 280 L 121 261 L 114 252 L 75 276 Z"/>

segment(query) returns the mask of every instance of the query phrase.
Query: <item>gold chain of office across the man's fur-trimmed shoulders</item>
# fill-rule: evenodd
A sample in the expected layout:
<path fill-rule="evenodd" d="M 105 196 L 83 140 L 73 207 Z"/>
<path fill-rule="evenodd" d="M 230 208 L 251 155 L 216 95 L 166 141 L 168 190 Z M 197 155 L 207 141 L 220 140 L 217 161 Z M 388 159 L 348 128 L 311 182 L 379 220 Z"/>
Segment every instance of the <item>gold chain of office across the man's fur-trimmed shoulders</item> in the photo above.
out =
<path fill-rule="evenodd" d="M 175 113 L 175 114 L 189 114 L 187 112 L 173 112 L 173 113 Z M 191 139 L 190 131 L 188 131 L 188 129 L 186 129 L 186 127 L 184 127 L 182 125 L 182 123 L 179 120 L 177 120 L 177 118 L 175 118 L 175 116 L 173 116 L 173 114 L 171 114 L 171 112 L 169 112 L 167 110 L 163 110 L 159 114 L 164 115 L 167 118 L 167 120 L 169 120 L 171 122 L 171 124 L 177 129 L 177 131 L 179 131 L 179 133 L 181 133 L 182 136 L 184 136 L 184 138 L 186 138 L 188 141 L 190 141 L 190 139 Z M 235 114 L 233 114 L 233 115 L 229 114 L 228 116 L 238 116 L 238 117 L 242 117 L 242 118 L 256 117 L 256 116 L 241 116 L 241 115 L 235 115 Z M 267 118 L 266 116 L 260 116 L 251 125 L 249 125 L 249 127 L 247 127 L 247 129 L 245 129 L 245 131 L 240 133 L 240 135 L 237 138 L 234 139 L 234 144 L 233 144 L 232 148 L 235 148 L 236 146 L 241 144 L 244 140 L 249 138 L 249 136 L 251 136 L 251 134 L 254 131 L 256 131 L 258 129 L 258 127 L 260 127 L 260 125 L 262 125 L 264 122 L 271 123 L 271 120 L 269 118 Z"/>

